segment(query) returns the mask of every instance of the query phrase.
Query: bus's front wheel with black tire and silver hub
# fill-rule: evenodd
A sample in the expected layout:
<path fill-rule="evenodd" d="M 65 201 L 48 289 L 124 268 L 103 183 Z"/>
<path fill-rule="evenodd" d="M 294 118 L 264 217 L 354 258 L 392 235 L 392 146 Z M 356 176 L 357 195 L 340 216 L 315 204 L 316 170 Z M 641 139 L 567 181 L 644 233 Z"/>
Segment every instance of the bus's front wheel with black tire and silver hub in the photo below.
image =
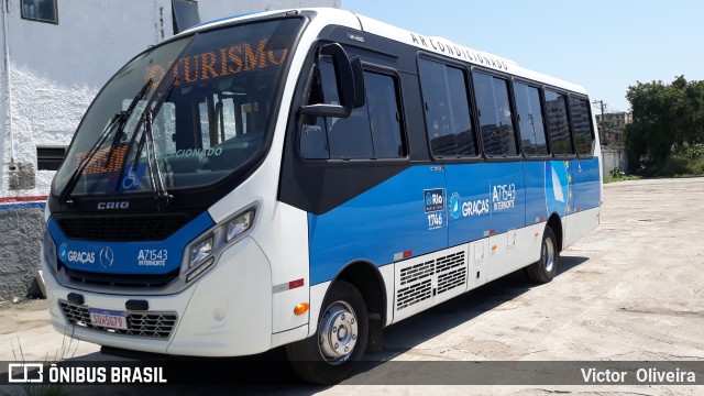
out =
<path fill-rule="evenodd" d="M 369 334 L 366 304 L 360 292 L 344 280 L 330 286 L 314 337 L 286 345 L 294 372 L 322 385 L 349 377 L 364 356 Z"/>

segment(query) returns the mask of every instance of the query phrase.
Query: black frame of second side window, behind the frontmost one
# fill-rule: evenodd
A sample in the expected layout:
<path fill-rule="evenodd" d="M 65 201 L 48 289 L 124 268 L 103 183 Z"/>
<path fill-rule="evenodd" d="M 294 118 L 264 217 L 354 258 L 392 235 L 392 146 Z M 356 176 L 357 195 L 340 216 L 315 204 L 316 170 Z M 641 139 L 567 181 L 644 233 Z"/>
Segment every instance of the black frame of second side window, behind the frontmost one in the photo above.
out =
<path fill-rule="evenodd" d="M 420 81 L 420 59 L 437 62 L 444 66 L 454 67 L 457 69 L 462 70 L 462 73 L 464 74 L 464 87 L 468 96 L 466 98 L 468 107 L 470 108 L 470 123 L 472 125 L 472 139 L 474 139 L 474 145 L 476 147 L 475 155 L 438 156 L 438 155 L 435 155 L 435 153 L 432 152 L 430 135 L 428 134 L 428 119 L 427 119 L 428 116 L 426 111 L 426 102 L 424 100 L 425 97 L 422 94 L 422 82 Z M 468 164 L 468 163 L 480 163 L 486 160 L 486 157 L 483 154 L 484 147 L 482 146 L 482 140 L 479 139 L 477 132 L 476 132 L 479 123 L 477 123 L 476 111 L 474 106 L 474 89 L 472 86 L 472 78 L 470 76 L 471 73 L 472 73 L 471 67 L 468 67 L 468 64 L 463 62 L 443 57 L 426 51 L 418 51 L 416 53 L 416 75 L 417 75 L 417 81 L 418 81 L 418 91 L 420 92 L 420 106 L 424 110 L 422 111 L 422 120 L 424 120 L 422 130 L 424 130 L 424 133 L 426 134 L 425 140 L 426 140 L 426 147 L 428 150 L 428 157 L 432 163 Z"/>

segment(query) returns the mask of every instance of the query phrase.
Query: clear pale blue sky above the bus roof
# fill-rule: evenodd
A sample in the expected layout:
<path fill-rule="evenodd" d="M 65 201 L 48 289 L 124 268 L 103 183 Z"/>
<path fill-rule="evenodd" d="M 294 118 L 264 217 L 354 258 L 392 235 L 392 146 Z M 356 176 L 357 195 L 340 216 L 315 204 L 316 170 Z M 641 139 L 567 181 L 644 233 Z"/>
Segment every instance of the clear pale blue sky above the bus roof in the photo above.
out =
<path fill-rule="evenodd" d="M 342 9 L 581 85 L 607 112 L 630 109 L 637 81 L 704 80 L 701 0 L 342 0 Z"/>

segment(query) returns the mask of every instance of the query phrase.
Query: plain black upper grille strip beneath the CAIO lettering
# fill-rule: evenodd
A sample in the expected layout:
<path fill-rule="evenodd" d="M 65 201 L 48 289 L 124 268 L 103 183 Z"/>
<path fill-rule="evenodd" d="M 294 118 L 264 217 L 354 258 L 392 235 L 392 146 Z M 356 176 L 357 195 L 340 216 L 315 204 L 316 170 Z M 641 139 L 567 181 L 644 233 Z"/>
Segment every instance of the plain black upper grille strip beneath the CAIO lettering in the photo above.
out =
<path fill-rule="evenodd" d="M 188 222 L 186 215 L 56 217 L 69 239 L 113 242 L 162 241 Z"/>

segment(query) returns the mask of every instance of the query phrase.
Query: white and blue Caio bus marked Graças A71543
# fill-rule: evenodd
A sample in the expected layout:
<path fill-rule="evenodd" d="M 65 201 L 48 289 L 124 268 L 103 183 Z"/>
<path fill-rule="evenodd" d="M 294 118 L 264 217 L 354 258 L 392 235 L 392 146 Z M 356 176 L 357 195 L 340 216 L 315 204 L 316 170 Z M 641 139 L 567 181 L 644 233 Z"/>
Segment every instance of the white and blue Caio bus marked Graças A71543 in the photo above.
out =
<path fill-rule="evenodd" d="M 600 222 L 586 91 L 334 9 L 206 23 L 102 88 L 57 172 L 54 328 L 319 383 L 384 327 L 520 268 L 550 282 Z"/>

